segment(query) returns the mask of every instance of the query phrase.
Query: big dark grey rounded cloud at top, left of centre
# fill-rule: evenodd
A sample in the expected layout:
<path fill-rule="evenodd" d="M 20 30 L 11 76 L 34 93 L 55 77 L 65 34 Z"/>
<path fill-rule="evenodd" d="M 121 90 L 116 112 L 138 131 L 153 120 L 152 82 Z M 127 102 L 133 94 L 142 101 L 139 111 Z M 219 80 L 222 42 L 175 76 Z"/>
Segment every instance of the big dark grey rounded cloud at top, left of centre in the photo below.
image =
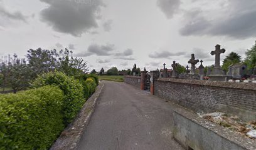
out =
<path fill-rule="evenodd" d="M 40 0 L 49 6 L 41 11 L 42 21 L 55 31 L 81 36 L 98 27 L 97 19 L 104 3 L 101 0 Z"/>

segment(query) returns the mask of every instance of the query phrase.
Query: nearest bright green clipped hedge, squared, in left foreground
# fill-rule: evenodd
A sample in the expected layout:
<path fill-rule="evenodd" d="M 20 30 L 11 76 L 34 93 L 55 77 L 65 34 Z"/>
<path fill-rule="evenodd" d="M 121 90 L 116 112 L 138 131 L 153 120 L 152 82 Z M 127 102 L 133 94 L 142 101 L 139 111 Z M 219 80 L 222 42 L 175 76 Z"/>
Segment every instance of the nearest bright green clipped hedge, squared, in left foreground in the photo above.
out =
<path fill-rule="evenodd" d="M 0 149 L 48 149 L 64 129 L 55 86 L 0 95 Z"/>

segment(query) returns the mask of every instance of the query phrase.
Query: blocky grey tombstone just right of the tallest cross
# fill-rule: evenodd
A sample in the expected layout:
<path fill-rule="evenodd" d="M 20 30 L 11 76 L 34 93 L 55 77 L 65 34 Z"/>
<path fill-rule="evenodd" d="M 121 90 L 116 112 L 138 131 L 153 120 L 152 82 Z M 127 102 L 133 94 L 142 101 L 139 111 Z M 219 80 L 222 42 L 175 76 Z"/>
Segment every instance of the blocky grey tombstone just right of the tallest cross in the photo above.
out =
<path fill-rule="evenodd" d="M 245 69 L 247 66 L 243 63 L 232 64 L 228 67 L 227 75 L 232 79 L 242 79 L 245 76 Z"/>

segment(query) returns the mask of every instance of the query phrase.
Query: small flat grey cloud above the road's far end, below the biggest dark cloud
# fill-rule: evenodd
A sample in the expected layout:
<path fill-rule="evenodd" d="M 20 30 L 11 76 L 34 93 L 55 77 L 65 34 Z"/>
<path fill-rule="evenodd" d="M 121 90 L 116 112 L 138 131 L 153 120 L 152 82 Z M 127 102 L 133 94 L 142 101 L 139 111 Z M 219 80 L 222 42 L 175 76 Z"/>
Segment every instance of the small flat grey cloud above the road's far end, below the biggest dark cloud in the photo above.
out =
<path fill-rule="evenodd" d="M 110 56 L 114 50 L 114 44 L 98 45 L 91 44 L 88 47 L 88 53 L 96 54 L 97 56 Z"/>

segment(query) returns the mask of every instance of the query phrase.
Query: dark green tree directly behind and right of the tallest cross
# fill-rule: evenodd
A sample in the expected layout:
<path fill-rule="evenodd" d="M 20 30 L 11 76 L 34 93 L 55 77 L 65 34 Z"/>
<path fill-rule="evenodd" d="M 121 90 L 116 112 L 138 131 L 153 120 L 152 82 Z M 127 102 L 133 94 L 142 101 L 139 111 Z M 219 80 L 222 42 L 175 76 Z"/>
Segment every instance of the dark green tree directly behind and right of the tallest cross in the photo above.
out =
<path fill-rule="evenodd" d="M 240 63 L 241 62 L 241 56 L 235 52 L 232 52 L 226 56 L 226 58 L 223 60 L 223 65 L 221 68 L 224 71 L 228 71 L 228 67 L 232 64 Z"/>

